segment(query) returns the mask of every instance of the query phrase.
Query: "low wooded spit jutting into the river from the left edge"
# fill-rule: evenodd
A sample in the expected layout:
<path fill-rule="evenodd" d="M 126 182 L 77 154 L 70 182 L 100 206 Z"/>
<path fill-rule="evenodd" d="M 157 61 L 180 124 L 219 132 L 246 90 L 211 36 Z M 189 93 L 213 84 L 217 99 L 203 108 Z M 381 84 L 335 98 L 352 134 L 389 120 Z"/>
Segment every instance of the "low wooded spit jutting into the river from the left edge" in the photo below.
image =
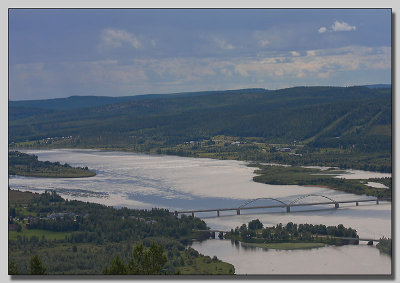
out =
<path fill-rule="evenodd" d="M 19 151 L 8 152 L 8 174 L 43 178 L 82 178 L 96 175 L 88 167 L 71 167 L 67 163 L 39 161 L 36 155 Z"/>

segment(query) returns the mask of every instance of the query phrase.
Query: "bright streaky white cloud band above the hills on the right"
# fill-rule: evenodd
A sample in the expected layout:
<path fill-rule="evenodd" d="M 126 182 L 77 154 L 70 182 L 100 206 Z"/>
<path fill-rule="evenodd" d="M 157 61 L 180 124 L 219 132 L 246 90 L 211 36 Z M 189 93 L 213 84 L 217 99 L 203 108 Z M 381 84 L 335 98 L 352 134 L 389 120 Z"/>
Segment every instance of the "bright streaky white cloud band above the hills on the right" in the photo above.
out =
<path fill-rule="evenodd" d="M 390 70 L 390 50 L 390 47 L 371 49 L 363 46 L 309 50 L 307 56 L 288 56 L 286 60 L 281 60 L 282 56 L 273 55 L 263 60 L 242 60 L 235 65 L 234 70 L 243 77 L 328 78 L 337 72 Z"/>

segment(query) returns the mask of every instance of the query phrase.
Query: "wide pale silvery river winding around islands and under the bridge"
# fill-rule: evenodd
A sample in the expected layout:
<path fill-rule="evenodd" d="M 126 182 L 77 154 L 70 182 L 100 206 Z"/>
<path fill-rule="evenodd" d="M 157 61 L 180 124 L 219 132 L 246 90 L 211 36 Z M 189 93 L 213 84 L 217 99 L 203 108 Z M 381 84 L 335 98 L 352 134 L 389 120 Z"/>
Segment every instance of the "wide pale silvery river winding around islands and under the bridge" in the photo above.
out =
<path fill-rule="evenodd" d="M 320 187 L 266 185 L 252 181 L 254 168 L 246 162 L 164 155 L 145 155 L 99 150 L 25 150 L 39 160 L 59 161 L 72 166 L 88 166 L 96 172 L 91 178 L 11 177 L 11 189 L 43 192 L 55 190 L 67 199 L 91 201 L 116 207 L 163 207 L 172 211 L 186 209 L 238 207 L 256 198 L 274 198 L 291 202 L 309 194 L 334 200 L 365 199 Z M 348 170 L 342 178 L 366 179 L 390 174 Z M 371 184 L 371 186 L 374 184 Z M 326 201 L 307 197 L 301 201 Z M 258 200 L 255 205 L 277 204 Z M 310 223 L 352 227 L 361 238 L 391 237 L 391 204 L 354 203 L 334 209 L 333 205 L 274 210 L 198 213 L 212 229 L 230 230 L 253 219 L 265 226 L 278 223 Z M 200 253 L 234 264 L 237 274 L 390 274 L 391 258 L 375 247 L 326 246 L 307 250 L 263 250 L 232 244 L 228 240 L 194 242 Z"/>

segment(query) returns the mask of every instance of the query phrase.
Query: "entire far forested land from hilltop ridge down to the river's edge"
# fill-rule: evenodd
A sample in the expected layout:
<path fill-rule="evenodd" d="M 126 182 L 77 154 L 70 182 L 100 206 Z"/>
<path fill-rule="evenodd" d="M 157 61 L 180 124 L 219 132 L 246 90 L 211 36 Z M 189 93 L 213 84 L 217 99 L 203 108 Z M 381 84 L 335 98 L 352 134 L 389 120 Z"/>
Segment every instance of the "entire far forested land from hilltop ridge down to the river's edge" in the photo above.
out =
<path fill-rule="evenodd" d="M 79 108 L 80 99 L 86 108 Z M 73 97 L 65 99 L 68 107 L 59 100 L 11 102 L 9 145 L 204 154 L 391 172 L 391 100 L 391 88 L 295 87 Z M 217 145 L 217 136 L 245 143 Z M 189 142 L 198 144 L 183 147 Z M 295 155 L 276 150 L 280 147 L 292 147 Z"/>

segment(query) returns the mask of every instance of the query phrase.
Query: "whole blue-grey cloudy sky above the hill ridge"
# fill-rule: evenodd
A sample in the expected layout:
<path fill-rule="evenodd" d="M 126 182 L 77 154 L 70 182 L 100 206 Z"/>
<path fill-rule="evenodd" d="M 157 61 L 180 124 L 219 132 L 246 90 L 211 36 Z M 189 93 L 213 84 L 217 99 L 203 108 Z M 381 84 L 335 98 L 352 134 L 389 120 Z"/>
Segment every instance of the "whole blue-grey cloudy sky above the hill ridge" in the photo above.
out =
<path fill-rule="evenodd" d="M 389 9 L 10 9 L 9 98 L 391 83 Z"/>

